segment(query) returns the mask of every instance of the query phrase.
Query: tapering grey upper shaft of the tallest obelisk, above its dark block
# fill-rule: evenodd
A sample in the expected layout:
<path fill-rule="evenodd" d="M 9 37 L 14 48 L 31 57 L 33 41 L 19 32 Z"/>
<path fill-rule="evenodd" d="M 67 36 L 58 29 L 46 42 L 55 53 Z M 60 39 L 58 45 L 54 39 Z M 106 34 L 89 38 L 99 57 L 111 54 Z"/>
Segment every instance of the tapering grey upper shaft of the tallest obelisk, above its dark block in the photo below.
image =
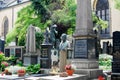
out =
<path fill-rule="evenodd" d="M 93 36 L 91 0 L 77 0 L 76 30 L 74 36 Z"/>

